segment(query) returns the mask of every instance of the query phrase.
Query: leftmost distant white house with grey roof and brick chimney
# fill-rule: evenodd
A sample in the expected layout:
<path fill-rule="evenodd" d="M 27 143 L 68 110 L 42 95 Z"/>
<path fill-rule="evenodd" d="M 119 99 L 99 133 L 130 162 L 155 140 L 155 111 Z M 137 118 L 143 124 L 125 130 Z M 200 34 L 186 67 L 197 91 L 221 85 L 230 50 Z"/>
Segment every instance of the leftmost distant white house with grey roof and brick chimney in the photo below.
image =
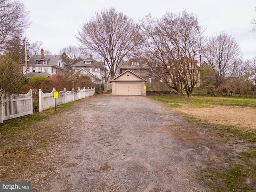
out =
<path fill-rule="evenodd" d="M 65 73 L 66 64 L 62 61 L 60 55 L 44 55 L 41 49 L 41 55 L 33 55 L 28 61 L 27 68 L 22 65 L 23 74 L 28 74 L 28 78 L 34 76 L 48 77 L 53 74 Z"/>

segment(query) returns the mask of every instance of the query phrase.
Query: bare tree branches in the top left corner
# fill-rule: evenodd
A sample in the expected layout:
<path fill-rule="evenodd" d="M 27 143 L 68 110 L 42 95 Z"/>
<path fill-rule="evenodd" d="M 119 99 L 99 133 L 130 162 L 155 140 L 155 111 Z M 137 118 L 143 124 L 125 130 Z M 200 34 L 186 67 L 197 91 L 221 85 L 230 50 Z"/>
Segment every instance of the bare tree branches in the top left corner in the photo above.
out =
<path fill-rule="evenodd" d="M 0 0 L 0 49 L 4 49 L 4 43 L 14 36 L 22 34 L 30 24 L 29 12 L 22 2 Z"/>

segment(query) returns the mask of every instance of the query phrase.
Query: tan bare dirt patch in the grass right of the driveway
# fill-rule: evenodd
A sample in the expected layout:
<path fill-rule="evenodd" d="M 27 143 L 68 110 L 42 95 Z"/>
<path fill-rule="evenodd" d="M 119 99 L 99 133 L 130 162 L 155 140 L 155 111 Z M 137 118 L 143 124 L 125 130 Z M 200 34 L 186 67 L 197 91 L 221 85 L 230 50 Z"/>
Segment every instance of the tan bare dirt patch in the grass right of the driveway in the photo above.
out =
<path fill-rule="evenodd" d="M 230 106 L 180 107 L 175 108 L 174 111 L 180 111 L 213 124 L 231 125 L 246 130 L 256 129 L 256 108 Z"/>

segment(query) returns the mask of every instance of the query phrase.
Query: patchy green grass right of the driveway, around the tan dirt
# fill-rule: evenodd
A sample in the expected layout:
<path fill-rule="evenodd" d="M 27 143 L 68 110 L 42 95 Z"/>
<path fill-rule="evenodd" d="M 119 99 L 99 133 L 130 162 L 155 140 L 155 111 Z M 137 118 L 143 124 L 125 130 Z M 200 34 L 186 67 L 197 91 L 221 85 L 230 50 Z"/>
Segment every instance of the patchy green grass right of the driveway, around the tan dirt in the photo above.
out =
<path fill-rule="evenodd" d="M 151 99 L 167 103 L 168 106 L 200 108 L 207 106 L 242 106 L 256 107 L 256 99 L 252 97 L 210 97 L 192 96 L 150 96 Z M 195 127 L 205 128 L 220 144 L 232 146 L 226 150 L 226 161 L 210 162 L 199 176 L 211 188 L 211 191 L 256 191 L 256 130 L 244 130 L 237 126 L 212 124 L 207 120 L 195 118 L 193 114 L 182 115 Z M 253 115 L 253 114 L 252 114 Z"/>

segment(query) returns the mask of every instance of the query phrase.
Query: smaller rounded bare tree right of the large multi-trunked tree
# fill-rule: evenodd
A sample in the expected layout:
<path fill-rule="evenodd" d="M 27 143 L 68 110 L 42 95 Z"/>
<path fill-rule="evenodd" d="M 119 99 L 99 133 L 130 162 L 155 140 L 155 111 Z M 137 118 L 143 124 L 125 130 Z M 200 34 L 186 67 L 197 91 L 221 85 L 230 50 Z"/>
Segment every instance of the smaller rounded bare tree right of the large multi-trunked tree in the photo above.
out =
<path fill-rule="evenodd" d="M 241 59 L 241 49 L 231 35 L 221 32 L 208 38 L 205 57 L 218 89 L 224 79 L 233 73 L 235 62 Z"/>

